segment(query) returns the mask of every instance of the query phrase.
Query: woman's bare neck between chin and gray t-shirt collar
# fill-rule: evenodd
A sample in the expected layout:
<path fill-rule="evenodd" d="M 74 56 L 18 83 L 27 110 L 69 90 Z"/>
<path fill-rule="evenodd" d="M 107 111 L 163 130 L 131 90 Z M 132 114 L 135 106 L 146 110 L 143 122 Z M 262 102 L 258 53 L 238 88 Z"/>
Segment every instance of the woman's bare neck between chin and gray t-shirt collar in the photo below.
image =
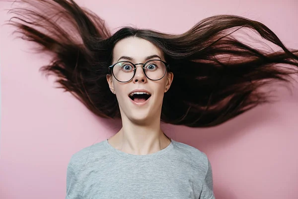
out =
<path fill-rule="evenodd" d="M 166 148 L 170 139 L 160 129 L 160 119 L 150 118 L 148 124 L 138 124 L 122 118 L 122 128 L 109 143 L 116 149 L 134 155 L 147 155 Z"/>

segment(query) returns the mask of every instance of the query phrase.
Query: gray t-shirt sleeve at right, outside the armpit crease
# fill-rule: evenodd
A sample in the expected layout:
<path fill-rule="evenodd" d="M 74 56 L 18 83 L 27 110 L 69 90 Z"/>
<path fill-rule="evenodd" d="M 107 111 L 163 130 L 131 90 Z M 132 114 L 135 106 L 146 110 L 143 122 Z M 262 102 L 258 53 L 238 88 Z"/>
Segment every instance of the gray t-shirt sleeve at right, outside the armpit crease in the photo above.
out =
<path fill-rule="evenodd" d="M 200 199 L 215 199 L 215 196 L 213 193 L 212 168 L 209 160 L 208 160 L 208 169 L 204 178 Z"/>

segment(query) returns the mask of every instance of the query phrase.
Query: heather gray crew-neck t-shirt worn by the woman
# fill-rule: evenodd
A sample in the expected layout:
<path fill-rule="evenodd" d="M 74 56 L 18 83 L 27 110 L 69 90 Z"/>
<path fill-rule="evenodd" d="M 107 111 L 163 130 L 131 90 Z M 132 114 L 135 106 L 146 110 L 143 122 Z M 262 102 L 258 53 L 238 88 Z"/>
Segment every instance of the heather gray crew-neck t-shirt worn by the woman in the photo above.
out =
<path fill-rule="evenodd" d="M 205 153 L 173 139 L 148 155 L 106 139 L 72 156 L 66 199 L 215 199 L 212 169 Z"/>

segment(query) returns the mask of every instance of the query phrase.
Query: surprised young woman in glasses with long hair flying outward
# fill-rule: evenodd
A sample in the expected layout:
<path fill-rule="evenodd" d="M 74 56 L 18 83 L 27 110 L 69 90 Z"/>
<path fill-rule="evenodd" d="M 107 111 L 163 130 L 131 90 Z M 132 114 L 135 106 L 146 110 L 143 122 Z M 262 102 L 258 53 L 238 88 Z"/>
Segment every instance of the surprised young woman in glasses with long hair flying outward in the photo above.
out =
<path fill-rule="evenodd" d="M 180 35 L 132 27 L 111 35 L 73 0 L 22 2 L 30 7 L 12 9 L 9 23 L 52 53 L 43 71 L 96 115 L 122 120 L 114 136 L 72 156 L 66 199 L 214 199 L 207 156 L 167 137 L 160 121 L 221 124 L 269 102 L 259 88 L 298 73 L 298 51 L 247 18 L 212 16 Z M 243 27 L 283 51 L 240 42 L 233 32 Z"/>

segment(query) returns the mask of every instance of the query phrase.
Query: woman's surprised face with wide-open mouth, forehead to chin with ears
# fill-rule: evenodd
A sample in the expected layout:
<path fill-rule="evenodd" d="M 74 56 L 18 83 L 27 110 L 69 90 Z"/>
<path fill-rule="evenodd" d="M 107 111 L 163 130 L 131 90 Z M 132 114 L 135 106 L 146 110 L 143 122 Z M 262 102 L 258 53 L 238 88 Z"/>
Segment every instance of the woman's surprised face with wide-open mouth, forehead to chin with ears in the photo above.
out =
<path fill-rule="evenodd" d="M 113 64 L 120 61 L 145 64 L 152 59 L 165 61 L 160 49 L 138 37 L 128 37 L 119 41 L 113 50 Z M 159 117 L 160 119 L 163 95 L 172 83 L 173 74 L 167 72 L 162 79 L 152 81 L 145 76 L 143 65 L 136 65 L 136 67 L 136 74 L 130 82 L 118 82 L 112 75 L 107 76 L 107 81 L 111 91 L 115 91 L 122 119 L 127 117 L 136 123 L 148 123 L 152 118 Z M 152 65 L 149 66 L 150 70 L 154 68 Z M 127 75 L 130 69 L 130 66 L 124 64 L 121 74 Z M 149 95 L 139 93 L 139 95 L 130 96 L 134 90 L 144 90 Z M 149 99 L 146 100 L 148 97 Z"/>

